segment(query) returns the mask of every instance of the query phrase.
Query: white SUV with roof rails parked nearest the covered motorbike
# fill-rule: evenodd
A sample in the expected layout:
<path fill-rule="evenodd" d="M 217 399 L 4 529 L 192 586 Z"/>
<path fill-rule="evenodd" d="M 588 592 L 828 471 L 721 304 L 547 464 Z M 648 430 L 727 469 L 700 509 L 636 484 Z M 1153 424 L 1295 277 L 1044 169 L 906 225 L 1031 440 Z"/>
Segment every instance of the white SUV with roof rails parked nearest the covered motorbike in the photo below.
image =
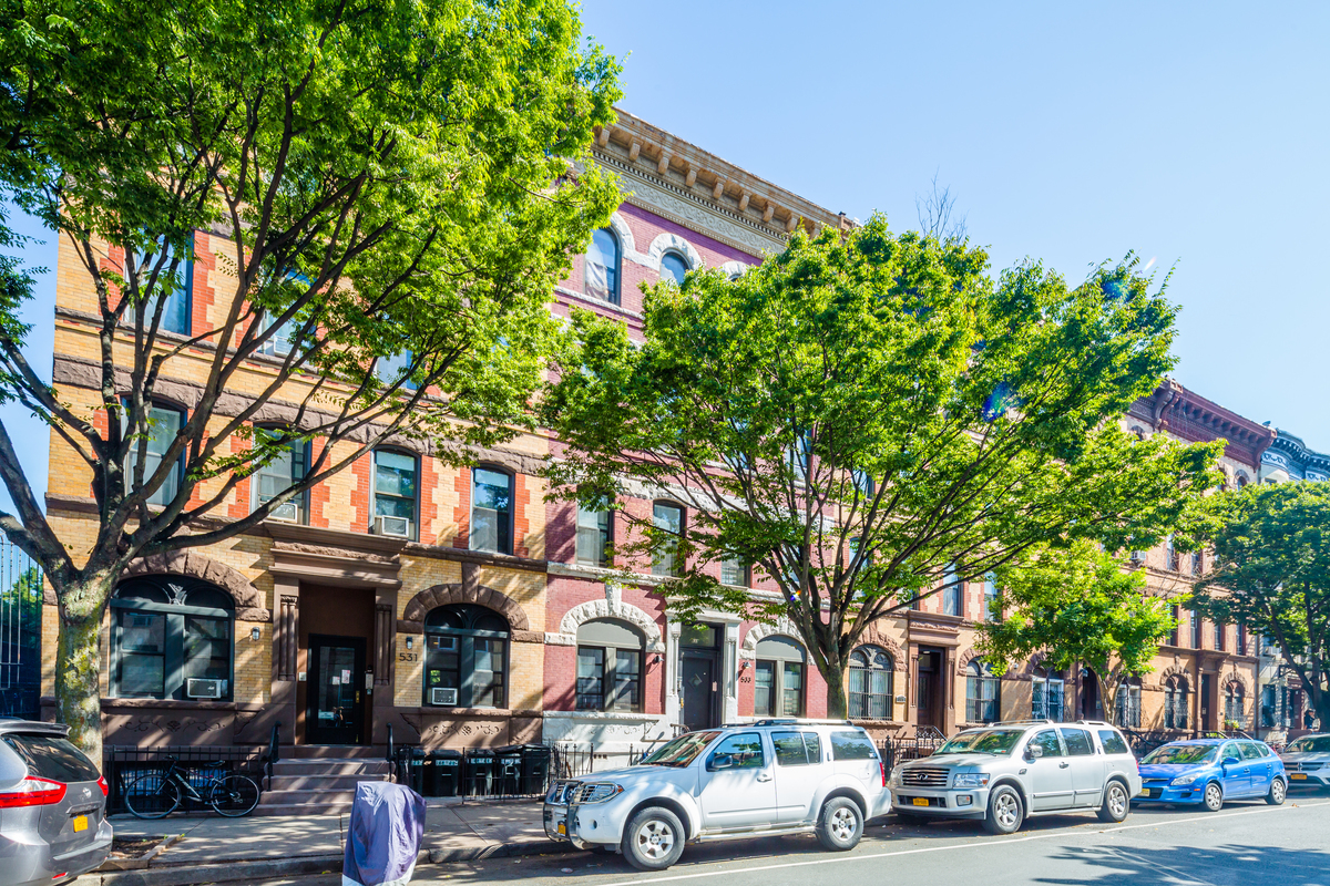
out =
<path fill-rule="evenodd" d="M 685 733 L 628 769 L 556 781 L 545 833 L 579 849 L 620 851 L 664 870 L 684 843 L 815 833 L 858 845 L 888 812 L 878 749 L 849 721 L 758 720 Z"/>

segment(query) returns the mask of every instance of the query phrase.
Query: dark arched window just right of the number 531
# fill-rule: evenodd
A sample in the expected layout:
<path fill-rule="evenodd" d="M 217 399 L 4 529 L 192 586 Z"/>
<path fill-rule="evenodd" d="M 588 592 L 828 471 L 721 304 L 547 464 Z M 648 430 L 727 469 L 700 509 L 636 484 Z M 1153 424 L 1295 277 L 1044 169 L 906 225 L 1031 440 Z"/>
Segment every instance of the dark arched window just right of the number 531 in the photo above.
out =
<path fill-rule="evenodd" d="M 501 708 L 508 697 L 508 622 L 469 603 L 424 616 L 424 703 L 443 708 Z"/>

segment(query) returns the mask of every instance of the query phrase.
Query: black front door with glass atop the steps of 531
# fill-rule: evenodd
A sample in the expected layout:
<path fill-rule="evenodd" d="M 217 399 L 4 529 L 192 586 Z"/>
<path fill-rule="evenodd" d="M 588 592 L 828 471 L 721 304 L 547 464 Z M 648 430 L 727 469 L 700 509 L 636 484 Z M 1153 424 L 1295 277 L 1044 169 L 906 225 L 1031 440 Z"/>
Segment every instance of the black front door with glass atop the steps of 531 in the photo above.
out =
<path fill-rule="evenodd" d="M 364 740 L 364 639 L 310 636 L 306 744 Z"/>

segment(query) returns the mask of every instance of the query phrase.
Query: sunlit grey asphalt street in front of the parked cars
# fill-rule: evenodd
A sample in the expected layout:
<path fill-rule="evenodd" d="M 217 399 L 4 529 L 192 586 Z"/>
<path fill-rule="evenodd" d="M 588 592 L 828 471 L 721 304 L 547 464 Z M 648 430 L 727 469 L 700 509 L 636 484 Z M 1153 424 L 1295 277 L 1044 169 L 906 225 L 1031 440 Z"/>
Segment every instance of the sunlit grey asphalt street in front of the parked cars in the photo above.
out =
<path fill-rule="evenodd" d="M 890 820 L 888 820 L 890 821 Z M 850 853 L 811 838 L 693 845 L 674 867 L 634 871 L 591 853 L 496 858 L 416 869 L 412 882 L 528 886 L 782 886 L 786 883 L 1168 883 L 1169 886 L 1330 886 L 1330 797 L 1294 796 L 1283 806 L 1228 804 L 1218 813 L 1134 809 L 1121 825 L 1093 816 L 1031 820 L 1009 837 L 976 824 L 871 824 Z M 314 878 L 306 886 L 315 886 Z"/>

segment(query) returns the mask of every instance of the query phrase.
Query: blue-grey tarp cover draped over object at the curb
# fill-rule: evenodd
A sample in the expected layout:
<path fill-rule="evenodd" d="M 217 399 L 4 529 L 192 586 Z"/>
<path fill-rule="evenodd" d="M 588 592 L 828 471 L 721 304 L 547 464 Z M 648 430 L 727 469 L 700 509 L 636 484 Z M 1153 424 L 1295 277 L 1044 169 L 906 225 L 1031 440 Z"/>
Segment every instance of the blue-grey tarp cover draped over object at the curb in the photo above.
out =
<path fill-rule="evenodd" d="M 362 781 L 355 786 L 346 834 L 342 885 L 410 883 L 424 836 L 424 800 L 406 785 Z"/>

